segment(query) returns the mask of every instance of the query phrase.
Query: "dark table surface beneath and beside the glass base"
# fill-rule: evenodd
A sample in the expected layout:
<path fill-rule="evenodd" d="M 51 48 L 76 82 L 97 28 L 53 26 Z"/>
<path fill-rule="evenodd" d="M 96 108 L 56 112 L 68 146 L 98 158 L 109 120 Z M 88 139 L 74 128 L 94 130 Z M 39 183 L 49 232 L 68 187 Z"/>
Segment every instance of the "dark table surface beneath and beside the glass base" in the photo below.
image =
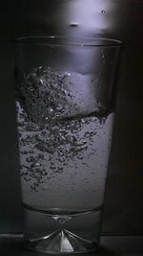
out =
<path fill-rule="evenodd" d="M 23 246 L 23 236 L 0 235 L 0 255 L 5 256 L 42 256 L 45 253 L 29 251 Z M 47 254 L 51 256 L 51 254 Z M 56 255 L 56 254 L 52 254 Z M 65 254 L 64 256 L 83 254 Z M 88 256 L 116 255 L 116 256 L 141 256 L 143 255 L 143 236 L 102 236 L 101 246 L 96 253 L 86 253 Z M 63 256 L 63 255 L 62 255 Z"/>

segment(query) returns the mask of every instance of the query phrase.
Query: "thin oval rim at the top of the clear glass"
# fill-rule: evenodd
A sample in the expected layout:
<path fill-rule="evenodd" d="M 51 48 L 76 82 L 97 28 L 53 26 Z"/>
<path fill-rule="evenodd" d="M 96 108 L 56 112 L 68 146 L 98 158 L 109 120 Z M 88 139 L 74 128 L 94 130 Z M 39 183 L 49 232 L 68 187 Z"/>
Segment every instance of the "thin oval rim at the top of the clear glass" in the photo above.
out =
<path fill-rule="evenodd" d="M 92 47 L 116 47 L 121 46 L 122 41 L 106 37 L 73 37 L 58 35 L 20 36 L 15 38 L 14 43 L 35 44 L 48 46 L 92 46 Z"/>

